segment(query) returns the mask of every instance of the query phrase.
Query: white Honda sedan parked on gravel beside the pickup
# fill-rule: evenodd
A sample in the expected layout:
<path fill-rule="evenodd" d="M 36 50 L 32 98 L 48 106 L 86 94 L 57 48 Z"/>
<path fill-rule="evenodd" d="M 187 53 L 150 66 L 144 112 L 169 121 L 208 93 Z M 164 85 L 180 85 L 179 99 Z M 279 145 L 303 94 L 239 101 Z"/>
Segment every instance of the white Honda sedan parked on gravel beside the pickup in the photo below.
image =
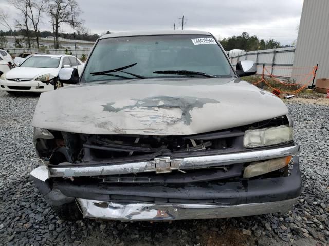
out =
<path fill-rule="evenodd" d="M 81 74 L 84 63 L 71 55 L 33 55 L 19 67 L 11 69 L 0 77 L 0 89 L 10 94 L 16 92 L 45 92 L 62 86 L 42 83 L 44 77 L 57 77 L 61 68 L 75 67 Z"/>

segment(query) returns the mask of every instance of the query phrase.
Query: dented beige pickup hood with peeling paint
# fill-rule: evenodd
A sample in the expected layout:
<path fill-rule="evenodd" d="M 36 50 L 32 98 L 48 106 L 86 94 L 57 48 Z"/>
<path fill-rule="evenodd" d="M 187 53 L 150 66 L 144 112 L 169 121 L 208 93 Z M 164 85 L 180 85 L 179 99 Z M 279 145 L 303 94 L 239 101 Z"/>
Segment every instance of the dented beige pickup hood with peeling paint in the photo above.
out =
<path fill-rule="evenodd" d="M 32 125 L 87 134 L 191 135 L 288 113 L 277 96 L 238 78 L 112 83 L 42 93 Z"/>

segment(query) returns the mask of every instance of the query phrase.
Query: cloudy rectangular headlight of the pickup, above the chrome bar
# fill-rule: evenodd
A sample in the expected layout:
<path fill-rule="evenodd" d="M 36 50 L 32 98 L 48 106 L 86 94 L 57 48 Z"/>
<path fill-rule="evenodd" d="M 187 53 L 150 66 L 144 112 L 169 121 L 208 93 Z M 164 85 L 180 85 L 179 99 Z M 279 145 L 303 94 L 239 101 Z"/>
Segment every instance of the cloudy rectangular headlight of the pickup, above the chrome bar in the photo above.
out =
<path fill-rule="evenodd" d="M 282 144 L 294 139 L 293 128 L 288 125 L 245 131 L 245 148 Z"/>

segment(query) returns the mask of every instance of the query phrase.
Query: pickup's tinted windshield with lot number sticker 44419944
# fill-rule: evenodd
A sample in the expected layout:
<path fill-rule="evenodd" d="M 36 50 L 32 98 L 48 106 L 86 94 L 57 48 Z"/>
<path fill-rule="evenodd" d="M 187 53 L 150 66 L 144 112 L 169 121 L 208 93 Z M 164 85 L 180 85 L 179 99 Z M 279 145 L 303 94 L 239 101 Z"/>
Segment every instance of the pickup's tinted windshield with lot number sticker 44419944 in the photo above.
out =
<path fill-rule="evenodd" d="M 212 36 L 132 36 L 99 40 L 88 59 L 81 82 L 136 78 L 120 71 L 111 72 L 111 76 L 98 73 L 134 63 L 136 65 L 122 71 L 144 78 L 192 76 L 187 73 L 154 73 L 171 70 L 194 71 L 220 77 L 234 75 L 224 52 Z"/>

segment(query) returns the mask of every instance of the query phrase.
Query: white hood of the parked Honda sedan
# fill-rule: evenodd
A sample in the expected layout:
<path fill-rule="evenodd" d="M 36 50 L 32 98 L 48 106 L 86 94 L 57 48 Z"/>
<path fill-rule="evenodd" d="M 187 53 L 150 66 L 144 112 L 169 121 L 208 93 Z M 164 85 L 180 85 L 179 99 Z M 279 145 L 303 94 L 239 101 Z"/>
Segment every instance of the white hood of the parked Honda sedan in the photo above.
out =
<path fill-rule="evenodd" d="M 47 73 L 55 73 L 58 71 L 57 68 L 21 68 L 16 67 L 14 69 L 9 70 L 6 73 L 6 78 L 24 78 L 24 79 L 32 79 L 37 75 L 43 75 Z"/>

